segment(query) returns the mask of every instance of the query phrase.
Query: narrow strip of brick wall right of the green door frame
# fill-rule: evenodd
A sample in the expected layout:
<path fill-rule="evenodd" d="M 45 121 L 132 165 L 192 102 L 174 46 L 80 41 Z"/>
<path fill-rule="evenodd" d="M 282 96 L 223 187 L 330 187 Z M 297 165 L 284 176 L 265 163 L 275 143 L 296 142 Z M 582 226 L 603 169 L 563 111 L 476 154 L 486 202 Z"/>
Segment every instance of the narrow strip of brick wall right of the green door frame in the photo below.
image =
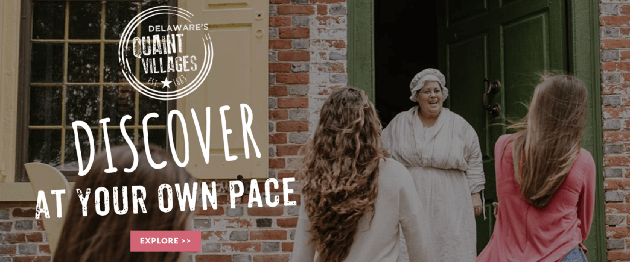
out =
<path fill-rule="evenodd" d="M 630 1 L 600 2 L 609 261 L 630 261 Z"/>

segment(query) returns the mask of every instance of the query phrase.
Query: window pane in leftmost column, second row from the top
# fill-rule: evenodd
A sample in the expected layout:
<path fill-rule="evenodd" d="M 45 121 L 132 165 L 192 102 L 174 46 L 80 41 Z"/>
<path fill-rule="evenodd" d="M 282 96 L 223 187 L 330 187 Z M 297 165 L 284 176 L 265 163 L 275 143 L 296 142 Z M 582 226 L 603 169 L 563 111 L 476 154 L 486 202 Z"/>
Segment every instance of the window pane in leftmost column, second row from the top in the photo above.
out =
<path fill-rule="evenodd" d="M 31 82 L 62 82 L 64 44 L 31 43 Z"/>

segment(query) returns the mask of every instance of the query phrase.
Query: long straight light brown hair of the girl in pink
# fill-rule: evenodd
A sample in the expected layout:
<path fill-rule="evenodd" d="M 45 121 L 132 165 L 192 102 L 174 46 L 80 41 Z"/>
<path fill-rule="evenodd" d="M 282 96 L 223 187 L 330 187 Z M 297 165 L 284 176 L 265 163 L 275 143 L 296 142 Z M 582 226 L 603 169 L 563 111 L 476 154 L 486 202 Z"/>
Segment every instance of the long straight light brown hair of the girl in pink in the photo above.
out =
<path fill-rule="evenodd" d="M 587 102 L 588 90 L 580 79 L 543 77 L 525 119 L 508 127 L 520 130 L 512 140 L 520 195 L 538 209 L 549 204 L 578 158 Z"/>

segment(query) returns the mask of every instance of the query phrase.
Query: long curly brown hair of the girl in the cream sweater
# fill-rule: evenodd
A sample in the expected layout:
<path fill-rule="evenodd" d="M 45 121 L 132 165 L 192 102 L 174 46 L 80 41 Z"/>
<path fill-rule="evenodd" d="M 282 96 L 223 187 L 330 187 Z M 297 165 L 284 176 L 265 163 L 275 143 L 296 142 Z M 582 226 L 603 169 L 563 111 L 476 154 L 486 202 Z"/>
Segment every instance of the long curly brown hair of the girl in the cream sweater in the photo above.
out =
<path fill-rule="evenodd" d="M 381 121 L 364 91 L 335 90 L 321 109 L 313 138 L 302 148 L 299 177 L 318 261 L 348 256 L 360 219 L 378 193 Z"/>

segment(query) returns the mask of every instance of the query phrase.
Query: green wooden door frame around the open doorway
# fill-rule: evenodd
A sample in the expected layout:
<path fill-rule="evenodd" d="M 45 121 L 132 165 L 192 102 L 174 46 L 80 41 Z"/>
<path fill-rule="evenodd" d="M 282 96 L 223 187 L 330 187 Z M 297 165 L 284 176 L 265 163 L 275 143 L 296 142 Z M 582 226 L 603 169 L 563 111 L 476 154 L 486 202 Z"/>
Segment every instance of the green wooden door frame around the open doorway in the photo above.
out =
<path fill-rule="evenodd" d="M 348 0 L 348 85 L 365 90 L 375 101 L 374 0 Z M 607 261 L 604 210 L 604 156 L 598 1 L 566 0 L 570 74 L 589 88 L 588 120 L 582 146 L 595 158 L 597 192 L 589 240 L 596 245 L 597 261 Z M 588 55 L 585 55 L 588 54 Z M 593 236 L 595 234 L 595 236 Z"/>

